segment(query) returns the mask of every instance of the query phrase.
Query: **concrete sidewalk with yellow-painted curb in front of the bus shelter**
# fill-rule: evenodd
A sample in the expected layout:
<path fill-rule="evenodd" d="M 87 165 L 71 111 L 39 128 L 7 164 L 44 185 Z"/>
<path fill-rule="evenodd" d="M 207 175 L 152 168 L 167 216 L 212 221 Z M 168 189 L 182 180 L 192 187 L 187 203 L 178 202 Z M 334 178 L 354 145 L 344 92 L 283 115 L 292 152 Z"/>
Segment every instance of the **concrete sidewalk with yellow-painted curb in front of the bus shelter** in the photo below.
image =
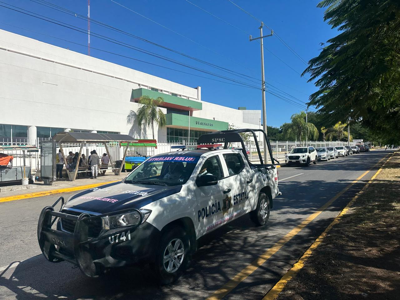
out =
<path fill-rule="evenodd" d="M 51 186 L 44 185 L 43 182 L 34 182 L 34 184 L 29 184 L 28 186 L 4 186 L 0 187 L 0 202 L 94 188 L 103 184 L 120 181 L 128 174 L 121 173 L 121 175 L 114 175 L 114 173 L 110 172 L 104 176 L 100 175 L 96 179 L 81 177 L 75 181 L 68 181 L 66 179 L 56 180 Z"/>

